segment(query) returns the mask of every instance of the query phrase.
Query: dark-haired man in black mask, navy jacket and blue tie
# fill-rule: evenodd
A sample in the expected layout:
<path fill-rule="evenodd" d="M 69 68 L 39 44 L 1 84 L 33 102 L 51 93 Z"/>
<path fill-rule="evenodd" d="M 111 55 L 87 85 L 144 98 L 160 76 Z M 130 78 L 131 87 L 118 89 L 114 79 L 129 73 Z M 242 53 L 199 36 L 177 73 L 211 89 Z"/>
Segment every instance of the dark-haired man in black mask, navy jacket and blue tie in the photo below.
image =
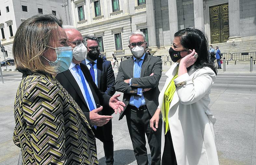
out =
<path fill-rule="evenodd" d="M 99 39 L 94 36 L 86 35 L 84 41 L 87 43 L 86 48 L 88 53 L 86 59 L 83 60 L 82 63 L 88 67 L 92 79 L 98 89 L 109 96 L 113 96 L 115 94 L 115 75 L 111 62 L 99 57 Z M 104 107 L 102 110 L 103 115 L 112 115 L 113 113 L 113 109 L 109 107 Z M 112 120 L 103 126 L 97 127 L 95 136 L 103 143 L 106 164 L 113 165 L 114 142 L 112 135 Z"/>

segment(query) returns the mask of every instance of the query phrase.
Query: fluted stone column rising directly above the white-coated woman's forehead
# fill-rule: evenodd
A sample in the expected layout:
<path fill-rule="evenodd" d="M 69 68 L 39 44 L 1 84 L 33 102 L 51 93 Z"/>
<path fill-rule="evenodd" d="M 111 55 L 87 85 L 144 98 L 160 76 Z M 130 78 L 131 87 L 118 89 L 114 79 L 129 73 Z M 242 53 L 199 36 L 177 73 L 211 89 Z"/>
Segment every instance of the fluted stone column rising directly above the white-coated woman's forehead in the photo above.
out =
<path fill-rule="evenodd" d="M 168 0 L 168 10 L 169 10 L 170 40 L 172 45 L 173 39 L 174 39 L 174 33 L 176 33 L 179 30 L 176 0 Z"/>

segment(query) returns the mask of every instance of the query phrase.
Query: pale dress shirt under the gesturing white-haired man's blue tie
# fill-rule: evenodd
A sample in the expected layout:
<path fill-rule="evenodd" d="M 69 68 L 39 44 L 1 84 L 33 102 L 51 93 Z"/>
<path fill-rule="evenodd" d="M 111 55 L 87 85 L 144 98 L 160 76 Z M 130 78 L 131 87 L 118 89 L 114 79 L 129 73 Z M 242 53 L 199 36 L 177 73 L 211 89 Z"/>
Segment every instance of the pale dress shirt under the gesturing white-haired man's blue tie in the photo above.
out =
<path fill-rule="evenodd" d="M 77 82 L 77 84 L 78 84 L 78 86 L 79 86 L 79 88 L 80 88 L 80 90 L 81 90 L 81 92 L 82 92 L 82 94 L 83 94 L 83 96 L 84 96 L 84 98 L 85 98 L 86 104 L 87 104 L 87 106 L 88 106 L 88 108 L 89 108 L 89 104 L 88 104 L 88 100 L 87 100 L 87 98 L 86 98 L 85 89 L 84 89 L 84 86 L 83 86 L 82 79 L 81 79 L 81 77 L 80 77 L 80 74 L 79 74 L 78 71 L 76 70 L 75 64 L 74 64 L 73 62 L 72 62 L 71 65 L 69 66 L 69 70 L 70 70 L 71 74 L 73 75 L 73 77 L 75 78 L 75 81 Z M 90 94 L 90 97 L 91 97 L 91 100 L 92 100 L 94 109 L 96 109 L 96 108 L 97 108 L 97 107 L 96 107 L 96 103 L 95 103 L 95 100 L 94 100 L 94 98 L 93 98 L 93 95 L 92 95 L 90 86 L 89 86 L 89 84 L 88 84 L 88 82 L 87 82 L 87 80 L 86 80 L 86 78 L 85 78 L 84 75 L 83 75 L 83 77 L 84 77 L 84 80 L 85 80 L 87 89 L 88 89 L 88 91 L 89 91 L 89 94 Z"/>

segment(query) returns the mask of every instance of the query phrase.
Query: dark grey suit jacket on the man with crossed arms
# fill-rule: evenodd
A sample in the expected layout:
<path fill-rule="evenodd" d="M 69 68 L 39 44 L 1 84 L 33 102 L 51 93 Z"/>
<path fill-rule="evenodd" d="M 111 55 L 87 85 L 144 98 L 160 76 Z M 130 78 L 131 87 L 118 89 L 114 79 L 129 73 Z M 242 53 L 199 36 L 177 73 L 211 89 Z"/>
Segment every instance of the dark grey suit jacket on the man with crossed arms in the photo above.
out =
<path fill-rule="evenodd" d="M 160 93 L 158 83 L 162 76 L 162 60 L 159 57 L 154 57 L 146 53 L 141 65 L 141 78 L 132 78 L 133 65 L 133 58 L 129 58 L 120 63 L 115 80 L 115 90 L 124 93 L 123 102 L 127 107 L 131 95 L 136 94 L 138 88 L 152 88 L 151 90 L 144 92 L 143 95 L 148 111 L 151 116 L 153 116 L 158 106 L 158 95 Z M 154 75 L 149 76 L 151 73 L 154 73 Z M 124 82 L 124 80 L 130 78 L 132 78 L 131 86 Z M 120 114 L 119 120 L 124 117 L 126 107 L 124 107 L 124 111 Z"/>

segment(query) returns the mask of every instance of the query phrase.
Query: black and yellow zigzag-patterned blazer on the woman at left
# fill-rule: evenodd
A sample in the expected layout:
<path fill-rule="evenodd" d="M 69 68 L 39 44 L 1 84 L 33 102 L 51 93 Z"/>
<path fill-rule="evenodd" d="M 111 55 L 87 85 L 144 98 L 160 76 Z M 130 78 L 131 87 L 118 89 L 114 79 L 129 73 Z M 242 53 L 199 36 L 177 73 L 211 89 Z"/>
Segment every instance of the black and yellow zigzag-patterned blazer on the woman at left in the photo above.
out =
<path fill-rule="evenodd" d="M 13 141 L 23 165 L 98 165 L 95 136 L 79 106 L 51 75 L 23 76 L 14 102 Z"/>

